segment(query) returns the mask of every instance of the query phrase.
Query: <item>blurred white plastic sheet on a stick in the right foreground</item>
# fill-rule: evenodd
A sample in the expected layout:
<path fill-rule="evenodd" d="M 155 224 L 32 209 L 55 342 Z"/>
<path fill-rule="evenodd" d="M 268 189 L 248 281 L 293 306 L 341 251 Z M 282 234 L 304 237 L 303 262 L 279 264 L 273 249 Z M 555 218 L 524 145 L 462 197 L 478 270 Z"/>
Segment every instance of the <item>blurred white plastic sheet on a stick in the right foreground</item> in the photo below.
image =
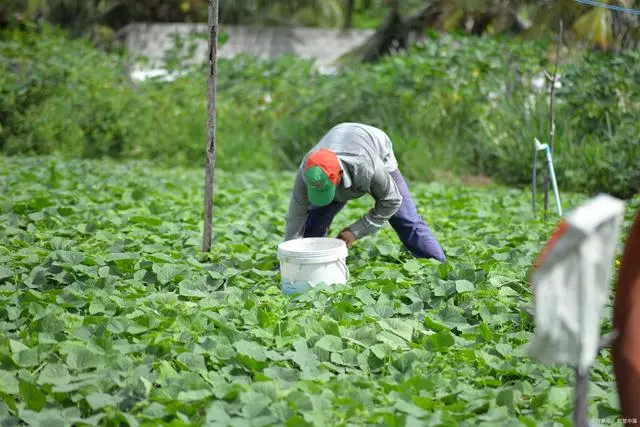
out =
<path fill-rule="evenodd" d="M 624 203 L 599 195 L 561 222 L 533 273 L 534 339 L 529 356 L 586 372 L 597 355 Z"/>

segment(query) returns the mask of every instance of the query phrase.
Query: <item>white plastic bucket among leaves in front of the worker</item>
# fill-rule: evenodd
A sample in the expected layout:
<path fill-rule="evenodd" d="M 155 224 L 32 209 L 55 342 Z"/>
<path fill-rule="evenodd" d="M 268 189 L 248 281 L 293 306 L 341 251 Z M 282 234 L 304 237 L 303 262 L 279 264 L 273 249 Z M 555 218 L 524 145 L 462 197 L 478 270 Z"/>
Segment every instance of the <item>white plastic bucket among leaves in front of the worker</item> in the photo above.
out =
<path fill-rule="evenodd" d="M 278 260 L 285 294 L 302 293 L 324 283 L 347 283 L 347 245 L 340 239 L 312 237 L 278 245 Z"/>

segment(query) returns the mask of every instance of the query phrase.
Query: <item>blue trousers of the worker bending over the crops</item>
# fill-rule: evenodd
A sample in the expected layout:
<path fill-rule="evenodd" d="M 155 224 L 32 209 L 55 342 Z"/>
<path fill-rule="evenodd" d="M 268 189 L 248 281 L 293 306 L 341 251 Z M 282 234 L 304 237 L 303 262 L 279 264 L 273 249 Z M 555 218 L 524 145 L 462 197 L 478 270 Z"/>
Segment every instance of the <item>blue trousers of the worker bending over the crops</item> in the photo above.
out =
<path fill-rule="evenodd" d="M 402 205 L 390 219 L 389 224 L 407 250 L 416 258 L 433 258 L 444 262 L 444 251 L 431 230 L 418 214 L 409 194 L 409 187 L 399 170 L 391 172 L 402 194 Z M 346 205 L 333 201 L 327 206 L 311 206 L 305 222 L 304 237 L 325 237 L 335 216 Z"/>

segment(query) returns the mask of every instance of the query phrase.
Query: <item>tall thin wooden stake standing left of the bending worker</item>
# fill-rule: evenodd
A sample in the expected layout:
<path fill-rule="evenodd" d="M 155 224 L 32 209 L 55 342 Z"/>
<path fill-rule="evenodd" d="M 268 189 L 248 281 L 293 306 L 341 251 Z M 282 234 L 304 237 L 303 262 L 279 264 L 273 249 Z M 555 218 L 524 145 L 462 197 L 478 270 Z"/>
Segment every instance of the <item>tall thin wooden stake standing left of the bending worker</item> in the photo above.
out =
<path fill-rule="evenodd" d="M 204 239 L 202 250 L 211 249 L 213 188 L 216 168 L 216 74 L 218 60 L 218 0 L 209 0 L 209 72 L 207 102 L 207 159 L 204 191 Z"/>

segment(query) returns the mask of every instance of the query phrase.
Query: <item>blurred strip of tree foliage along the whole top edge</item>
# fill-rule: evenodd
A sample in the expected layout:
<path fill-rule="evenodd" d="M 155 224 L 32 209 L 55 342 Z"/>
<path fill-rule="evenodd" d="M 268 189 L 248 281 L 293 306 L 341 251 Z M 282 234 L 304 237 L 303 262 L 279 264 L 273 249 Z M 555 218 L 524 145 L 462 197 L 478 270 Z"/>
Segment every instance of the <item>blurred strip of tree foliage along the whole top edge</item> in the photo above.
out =
<path fill-rule="evenodd" d="M 8 0 L 0 6 L 0 23 L 16 13 L 44 19 L 77 36 L 104 39 L 134 21 L 206 22 L 205 0 Z M 612 0 L 612 5 L 640 8 L 640 0 Z M 403 47 L 425 30 L 470 35 L 547 36 L 560 19 L 569 40 L 600 50 L 635 49 L 640 44 L 638 16 L 575 0 L 221 0 L 220 22 L 227 25 L 296 25 L 317 27 L 377 26 L 365 59 L 390 46 Z M 369 20 L 369 21 L 367 21 Z M 365 21 L 367 23 L 365 23 Z M 384 34 L 385 36 L 382 36 Z"/>

